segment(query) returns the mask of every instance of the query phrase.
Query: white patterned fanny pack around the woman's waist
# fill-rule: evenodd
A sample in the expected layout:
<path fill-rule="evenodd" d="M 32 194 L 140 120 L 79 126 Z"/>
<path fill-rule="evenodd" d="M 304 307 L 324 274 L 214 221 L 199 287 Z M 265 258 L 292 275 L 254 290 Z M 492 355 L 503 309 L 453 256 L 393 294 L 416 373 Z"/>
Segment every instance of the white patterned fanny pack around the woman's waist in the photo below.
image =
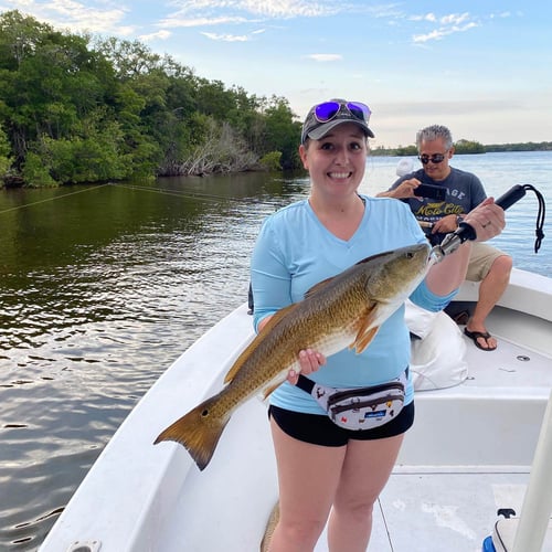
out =
<path fill-rule="evenodd" d="M 311 395 L 330 420 L 346 429 L 373 429 L 403 410 L 408 369 L 399 378 L 370 388 L 336 389 L 299 374 L 297 386 Z"/>

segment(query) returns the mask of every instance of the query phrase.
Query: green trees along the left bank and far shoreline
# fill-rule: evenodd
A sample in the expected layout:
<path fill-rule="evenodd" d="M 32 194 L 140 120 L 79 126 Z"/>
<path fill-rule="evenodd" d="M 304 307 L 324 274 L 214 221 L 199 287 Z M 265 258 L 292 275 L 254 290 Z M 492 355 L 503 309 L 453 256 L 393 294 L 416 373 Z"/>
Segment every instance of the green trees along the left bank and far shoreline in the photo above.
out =
<path fill-rule="evenodd" d="M 208 81 L 139 41 L 0 14 L 0 187 L 297 169 L 300 126 L 286 98 Z M 551 144 L 456 142 L 459 153 L 526 149 Z"/>

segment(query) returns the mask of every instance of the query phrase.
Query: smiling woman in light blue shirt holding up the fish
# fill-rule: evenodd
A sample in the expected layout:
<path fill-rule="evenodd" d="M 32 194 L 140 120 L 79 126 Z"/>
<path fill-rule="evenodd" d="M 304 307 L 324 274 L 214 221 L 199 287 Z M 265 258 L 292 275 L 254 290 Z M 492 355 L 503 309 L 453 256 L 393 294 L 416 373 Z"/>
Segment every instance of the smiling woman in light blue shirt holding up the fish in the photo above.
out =
<path fill-rule="evenodd" d="M 255 327 L 278 309 L 302 299 L 316 283 L 358 261 L 425 236 L 407 205 L 358 193 L 368 155 L 370 109 L 335 99 L 314 106 L 302 126 L 299 155 L 309 171 L 308 200 L 269 216 L 252 257 Z M 491 199 L 465 219 L 479 241 L 505 226 Z M 470 245 L 434 265 L 411 299 L 431 310 L 444 308 L 464 280 Z M 301 373 L 332 388 L 365 388 L 407 376 L 410 337 L 404 307 L 392 315 L 361 353 L 343 350 L 328 359 L 300 351 Z M 270 552 L 311 551 L 329 517 L 331 552 L 365 551 L 372 508 L 389 479 L 404 433 L 414 421 L 412 383 L 404 407 L 374 429 L 336 425 L 317 401 L 295 385 L 298 374 L 270 395 L 269 417 L 279 485 L 279 521 Z"/>

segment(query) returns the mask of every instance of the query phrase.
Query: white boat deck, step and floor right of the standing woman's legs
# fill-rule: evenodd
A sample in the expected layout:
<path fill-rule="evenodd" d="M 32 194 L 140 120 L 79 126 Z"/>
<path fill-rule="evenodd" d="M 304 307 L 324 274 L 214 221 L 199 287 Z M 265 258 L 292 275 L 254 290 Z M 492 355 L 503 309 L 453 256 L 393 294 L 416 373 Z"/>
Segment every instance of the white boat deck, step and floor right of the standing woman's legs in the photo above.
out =
<path fill-rule="evenodd" d="M 492 327 L 492 322 L 489 326 Z M 540 420 L 544 412 L 546 388 L 552 388 L 552 360 L 537 353 L 532 353 L 530 360 L 518 360 L 520 355 L 524 359 L 527 350 L 503 339 L 492 353 L 479 351 L 469 343 L 467 354 L 468 381 L 458 388 L 416 395 L 416 423 L 407 434 L 401 455 L 406 458 L 396 466 L 380 496 L 370 552 L 480 552 L 484 539 L 492 532 L 499 508 L 521 512 L 540 429 L 531 420 L 535 420 L 533 416 Z M 493 360 L 500 358 L 497 369 L 486 362 L 489 354 L 496 355 Z M 467 391 L 476 392 L 476 396 L 489 393 L 487 405 L 474 405 L 475 417 L 469 413 L 474 394 L 467 397 Z M 513 404 L 512 392 L 516 393 Z M 433 403 L 437 404 L 440 415 L 435 414 Z M 502 417 L 502 408 L 517 412 L 506 412 Z M 439 417 L 432 422 L 434 414 Z M 465 418 L 466 414 L 470 420 Z M 512 414 L 520 424 L 508 429 Z M 488 435 L 482 433 L 482 440 L 479 434 L 470 443 L 469 434 L 459 433 L 459 428 L 475 422 L 477 416 L 481 417 L 482 425 L 490 420 L 500 423 L 502 418 L 506 428 L 489 428 Z M 458 426 L 450 428 L 446 439 L 439 436 L 434 443 L 427 443 L 428 447 L 440 447 L 443 453 L 434 452 L 435 465 L 424 465 L 427 457 L 421 458 L 420 454 L 427 448 L 417 447 L 415 442 L 432 438 L 427 432 L 432 423 L 440 426 L 455 420 Z M 459 440 L 464 437 L 466 442 Z M 412 456 L 411 449 L 415 453 Z M 463 458 L 468 464 L 463 464 Z M 478 458 L 486 458 L 486 464 L 478 464 Z M 316 550 L 327 551 L 325 540 Z M 552 551 L 551 540 L 546 540 L 543 551 Z"/>

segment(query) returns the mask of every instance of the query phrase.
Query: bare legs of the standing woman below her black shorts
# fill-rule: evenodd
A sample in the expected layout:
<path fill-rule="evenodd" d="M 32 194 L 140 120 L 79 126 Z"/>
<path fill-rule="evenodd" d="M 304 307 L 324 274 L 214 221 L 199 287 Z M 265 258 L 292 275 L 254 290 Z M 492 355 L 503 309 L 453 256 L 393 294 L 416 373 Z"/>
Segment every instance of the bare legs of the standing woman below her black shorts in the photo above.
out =
<path fill-rule="evenodd" d="M 403 435 L 350 440 L 343 447 L 310 445 L 270 420 L 278 465 L 280 517 L 270 552 L 311 552 L 330 508 L 331 552 L 364 552 L 372 509 L 393 469 Z"/>

